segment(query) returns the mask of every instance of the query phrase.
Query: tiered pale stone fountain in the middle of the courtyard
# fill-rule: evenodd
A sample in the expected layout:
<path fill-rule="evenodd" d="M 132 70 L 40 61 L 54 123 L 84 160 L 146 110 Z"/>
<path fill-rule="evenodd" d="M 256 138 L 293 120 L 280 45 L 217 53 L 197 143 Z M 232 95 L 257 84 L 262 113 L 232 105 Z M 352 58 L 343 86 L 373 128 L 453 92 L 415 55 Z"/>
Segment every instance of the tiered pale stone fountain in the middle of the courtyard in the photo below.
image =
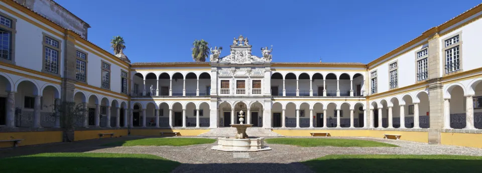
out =
<path fill-rule="evenodd" d="M 246 134 L 246 128 L 252 127 L 253 124 L 243 124 L 245 116 L 243 110 L 239 112 L 239 124 L 230 124 L 236 127 L 236 135 L 234 137 L 218 137 L 217 145 L 211 149 L 221 151 L 264 151 L 271 150 L 269 146 L 265 146 L 264 137 L 249 137 Z"/>

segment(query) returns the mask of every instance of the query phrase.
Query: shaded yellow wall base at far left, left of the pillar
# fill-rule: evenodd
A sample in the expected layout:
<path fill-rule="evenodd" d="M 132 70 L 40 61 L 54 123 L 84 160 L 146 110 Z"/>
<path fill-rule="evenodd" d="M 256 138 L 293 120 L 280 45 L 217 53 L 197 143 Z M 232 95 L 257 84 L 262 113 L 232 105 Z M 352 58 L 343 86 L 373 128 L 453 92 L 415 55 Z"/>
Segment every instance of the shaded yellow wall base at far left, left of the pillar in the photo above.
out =
<path fill-rule="evenodd" d="M 62 131 L 1 132 L 0 140 L 24 139 L 19 146 L 62 141 Z M 13 142 L 0 142 L 0 147 L 12 147 Z"/>

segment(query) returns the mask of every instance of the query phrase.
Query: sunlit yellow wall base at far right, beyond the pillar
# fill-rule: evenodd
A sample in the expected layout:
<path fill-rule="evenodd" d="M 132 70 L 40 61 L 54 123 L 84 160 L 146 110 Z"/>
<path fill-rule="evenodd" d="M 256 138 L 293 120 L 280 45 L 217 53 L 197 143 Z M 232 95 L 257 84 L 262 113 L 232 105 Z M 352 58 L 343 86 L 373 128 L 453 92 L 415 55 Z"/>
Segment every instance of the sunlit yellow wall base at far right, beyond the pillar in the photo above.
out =
<path fill-rule="evenodd" d="M 482 134 L 442 132 L 441 143 L 482 148 Z"/>

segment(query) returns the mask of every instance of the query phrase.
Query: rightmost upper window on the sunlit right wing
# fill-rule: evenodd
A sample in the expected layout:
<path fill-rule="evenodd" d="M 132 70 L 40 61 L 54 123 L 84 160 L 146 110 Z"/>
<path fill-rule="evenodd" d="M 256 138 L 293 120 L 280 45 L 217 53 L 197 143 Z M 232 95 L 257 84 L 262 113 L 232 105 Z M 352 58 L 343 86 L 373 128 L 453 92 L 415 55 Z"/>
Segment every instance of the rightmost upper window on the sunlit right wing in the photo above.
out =
<path fill-rule="evenodd" d="M 452 36 L 444 42 L 445 73 L 460 70 L 460 34 Z"/>

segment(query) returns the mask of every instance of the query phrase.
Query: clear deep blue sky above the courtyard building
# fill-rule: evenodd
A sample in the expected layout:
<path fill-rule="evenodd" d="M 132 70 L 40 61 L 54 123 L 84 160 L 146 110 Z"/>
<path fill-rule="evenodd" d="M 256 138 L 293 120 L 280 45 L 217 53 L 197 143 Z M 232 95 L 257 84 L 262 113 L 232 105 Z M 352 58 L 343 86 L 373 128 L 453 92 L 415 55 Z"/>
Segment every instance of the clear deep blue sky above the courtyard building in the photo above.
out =
<path fill-rule="evenodd" d="M 273 61 L 368 63 L 480 0 L 55 0 L 109 50 L 121 35 L 132 62 L 192 61 L 194 39 L 223 46 L 243 34 Z M 227 51 L 226 51 L 227 50 Z"/>

